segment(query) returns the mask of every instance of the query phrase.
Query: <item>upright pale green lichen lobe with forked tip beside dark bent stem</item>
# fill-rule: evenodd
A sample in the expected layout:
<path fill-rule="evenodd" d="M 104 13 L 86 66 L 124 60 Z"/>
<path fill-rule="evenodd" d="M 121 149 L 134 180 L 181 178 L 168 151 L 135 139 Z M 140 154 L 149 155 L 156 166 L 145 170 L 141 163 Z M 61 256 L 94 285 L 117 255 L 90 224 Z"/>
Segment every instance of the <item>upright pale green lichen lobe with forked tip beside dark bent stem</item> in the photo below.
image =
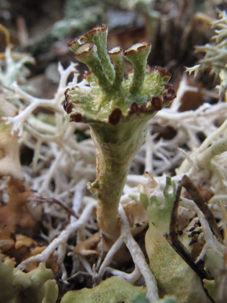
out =
<path fill-rule="evenodd" d="M 165 204 L 157 196 L 152 196 L 147 207 L 149 229 L 145 235 L 145 246 L 150 267 L 157 279 L 159 296 L 174 295 L 179 303 L 209 303 L 200 278 L 189 265 L 177 254 L 166 241 L 164 233 L 168 232 L 171 211 L 176 194 L 173 182 L 173 193 L 169 193 L 171 178 L 166 178 L 163 190 Z M 180 241 L 189 248 L 188 233 L 179 235 Z"/>

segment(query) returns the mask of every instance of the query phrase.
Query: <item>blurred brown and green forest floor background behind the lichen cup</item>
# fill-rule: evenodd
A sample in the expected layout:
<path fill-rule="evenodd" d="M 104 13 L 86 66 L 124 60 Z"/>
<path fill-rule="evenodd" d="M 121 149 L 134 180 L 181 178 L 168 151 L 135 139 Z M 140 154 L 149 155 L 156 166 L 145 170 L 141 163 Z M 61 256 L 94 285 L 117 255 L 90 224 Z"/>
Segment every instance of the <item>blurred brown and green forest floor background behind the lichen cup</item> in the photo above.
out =
<path fill-rule="evenodd" d="M 207 43 L 212 36 L 209 22 L 217 17 L 215 8 L 224 10 L 227 3 L 220 0 L 1 0 L 0 23 L 10 31 L 14 51 L 35 58 L 36 64 L 29 66 L 30 77 L 45 75 L 44 82 L 39 77 L 35 84 L 44 84 L 37 92 L 48 97 L 51 89 L 45 91 L 45 87 L 59 80 L 56 63 L 61 61 L 67 67 L 74 60 L 68 42 L 100 23 L 108 26 L 109 48 L 115 45 L 127 48 L 139 41 L 151 41 L 149 65 L 165 67 L 174 76 L 172 82 L 176 82 L 184 66 L 195 65 L 203 56 L 194 54 L 193 47 Z M 0 52 L 4 52 L 3 32 L 0 41 Z"/>

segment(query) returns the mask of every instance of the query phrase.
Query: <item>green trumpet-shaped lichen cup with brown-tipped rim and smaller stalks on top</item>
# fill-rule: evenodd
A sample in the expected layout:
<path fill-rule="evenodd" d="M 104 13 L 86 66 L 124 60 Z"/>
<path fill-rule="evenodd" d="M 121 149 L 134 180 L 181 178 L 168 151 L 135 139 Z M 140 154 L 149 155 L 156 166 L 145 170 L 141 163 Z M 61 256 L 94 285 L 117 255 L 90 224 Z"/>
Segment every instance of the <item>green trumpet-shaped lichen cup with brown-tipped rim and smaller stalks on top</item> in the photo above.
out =
<path fill-rule="evenodd" d="M 97 179 L 88 187 L 97 193 L 97 220 L 108 248 L 120 235 L 119 202 L 131 162 L 145 140 L 147 122 L 176 93 L 166 83 L 170 73 L 159 66 L 153 73 L 147 68 L 150 42 L 134 44 L 125 52 L 120 46 L 107 52 L 106 39 L 107 26 L 101 24 L 68 44 L 74 57 L 90 69 L 84 75 L 90 88 L 68 88 L 64 109 L 70 121 L 90 125 Z M 128 79 L 123 58 L 133 65 Z"/>

